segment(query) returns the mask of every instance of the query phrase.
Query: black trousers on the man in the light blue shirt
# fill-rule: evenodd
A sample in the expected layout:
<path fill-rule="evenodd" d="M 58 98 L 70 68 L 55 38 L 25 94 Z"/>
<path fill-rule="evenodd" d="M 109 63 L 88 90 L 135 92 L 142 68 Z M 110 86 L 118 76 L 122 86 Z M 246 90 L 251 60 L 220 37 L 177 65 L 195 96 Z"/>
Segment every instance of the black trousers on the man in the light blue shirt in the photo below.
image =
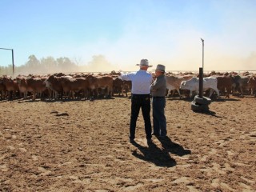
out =
<path fill-rule="evenodd" d="M 142 108 L 144 118 L 146 138 L 151 138 L 151 122 L 150 122 L 150 94 L 132 94 L 131 97 L 131 114 L 130 114 L 130 139 L 135 138 L 135 128 L 138 119 L 138 113 Z"/>

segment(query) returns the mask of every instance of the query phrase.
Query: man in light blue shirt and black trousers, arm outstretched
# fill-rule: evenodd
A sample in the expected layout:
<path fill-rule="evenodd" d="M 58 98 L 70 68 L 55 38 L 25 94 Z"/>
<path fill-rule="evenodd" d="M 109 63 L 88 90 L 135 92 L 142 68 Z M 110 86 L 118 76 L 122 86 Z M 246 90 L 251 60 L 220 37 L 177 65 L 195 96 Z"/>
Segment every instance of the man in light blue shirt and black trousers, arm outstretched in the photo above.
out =
<path fill-rule="evenodd" d="M 142 59 L 140 70 L 129 74 L 121 74 L 122 80 L 131 81 L 131 114 L 130 114 L 130 142 L 134 142 L 135 128 L 140 108 L 145 123 L 147 142 L 151 142 L 151 122 L 150 122 L 150 85 L 153 81 L 152 75 L 147 72 L 150 67 L 147 59 Z"/>

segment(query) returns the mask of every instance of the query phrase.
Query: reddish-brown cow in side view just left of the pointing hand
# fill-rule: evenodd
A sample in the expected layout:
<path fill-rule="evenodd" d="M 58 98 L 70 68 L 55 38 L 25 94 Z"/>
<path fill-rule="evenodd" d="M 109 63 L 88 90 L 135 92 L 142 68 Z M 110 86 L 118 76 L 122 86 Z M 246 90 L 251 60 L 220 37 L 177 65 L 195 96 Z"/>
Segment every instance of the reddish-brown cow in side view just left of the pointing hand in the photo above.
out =
<path fill-rule="evenodd" d="M 105 97 L 111 97 L 113 93 L 113 78 L 110 76 L 99 76 L 95 77 L 89 75 L 90 90 L 95 91 L 96 97 L 98 98 L 98 89 L 106 89 Z"/>

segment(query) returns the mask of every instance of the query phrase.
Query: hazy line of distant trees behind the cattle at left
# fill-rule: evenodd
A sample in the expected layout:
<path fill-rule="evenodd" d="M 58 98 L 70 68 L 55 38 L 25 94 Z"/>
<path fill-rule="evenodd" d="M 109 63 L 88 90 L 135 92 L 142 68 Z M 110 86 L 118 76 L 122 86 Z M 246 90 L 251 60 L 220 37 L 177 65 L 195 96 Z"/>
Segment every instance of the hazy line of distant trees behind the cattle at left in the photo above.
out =
<path fill-rule="evenodd" d="M 34 55 L 30 55 L 28 61 L 22 66 L 14 67 L 14 75 L 18 74 L 52 74 L 52 73 L 70 73 L 79 71 L 102 71 L 110 70 L 110 62 L 106 61 L 103 55 L 94 55 L 92 61 L 87 65 L 72 61 L 70 58 L 41 58 L 40 60 Z M 0 74 L 13 74 L 13 66 L 0 66 Z"/>

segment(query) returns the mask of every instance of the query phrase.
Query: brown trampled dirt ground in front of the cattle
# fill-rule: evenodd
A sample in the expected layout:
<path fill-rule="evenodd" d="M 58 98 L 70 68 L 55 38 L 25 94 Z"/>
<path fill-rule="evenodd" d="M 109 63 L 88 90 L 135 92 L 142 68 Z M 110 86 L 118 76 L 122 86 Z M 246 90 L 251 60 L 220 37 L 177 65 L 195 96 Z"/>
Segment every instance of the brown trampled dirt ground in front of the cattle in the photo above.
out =
<path fill-rule="evenodd" d="M 256 98 L 166 98 L 167 138 L 129 142 L 130 99 L 0 102 L 0 191 L 256 191 Z"/>

